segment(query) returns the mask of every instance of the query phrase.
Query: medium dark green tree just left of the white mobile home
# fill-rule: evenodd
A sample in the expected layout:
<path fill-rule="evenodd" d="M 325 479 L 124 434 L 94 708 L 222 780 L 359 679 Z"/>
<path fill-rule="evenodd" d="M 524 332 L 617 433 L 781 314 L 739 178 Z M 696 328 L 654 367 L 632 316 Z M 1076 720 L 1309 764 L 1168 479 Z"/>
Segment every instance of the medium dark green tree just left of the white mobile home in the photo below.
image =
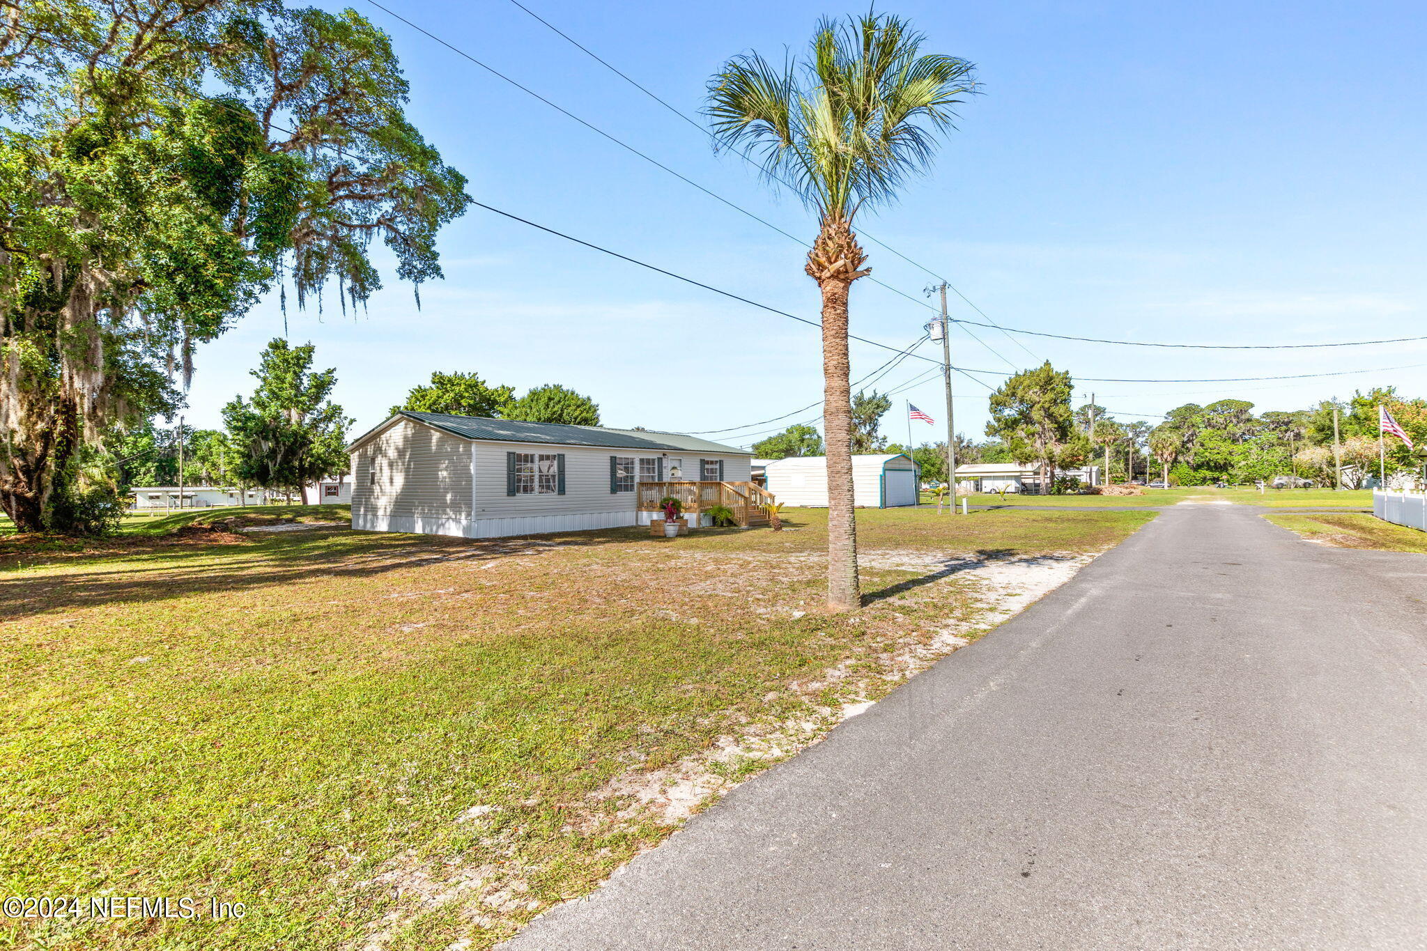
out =
<path fill-rule="evenodd" d="M 351 419 L 328 396 L 337 371 L 313 372 L 313 345 L 275 339 L 253 371 L 253 401 L 235 398 L 223 408 L 228 441 L 237 449 L 233 476 L 244 485 L 301 492 L 325 476 L 348 469 L 347 429 Z"/>

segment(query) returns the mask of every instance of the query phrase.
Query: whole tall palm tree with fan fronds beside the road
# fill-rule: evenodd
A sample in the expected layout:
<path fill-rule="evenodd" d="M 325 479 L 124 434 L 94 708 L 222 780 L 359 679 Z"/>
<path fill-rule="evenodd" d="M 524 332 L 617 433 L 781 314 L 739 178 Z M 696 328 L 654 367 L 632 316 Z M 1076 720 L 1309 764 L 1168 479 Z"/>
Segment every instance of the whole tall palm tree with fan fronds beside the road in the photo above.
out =
<path fill-rule="evenodd" d="M 925 37 L 893 16 L 822 20 L 806 61 L 782 68 L 756 53 L 731 58 L 708 84 L 715 143 L 762 167 L 818 212 L 805 271 L 822 292 L 823 429 L 828 452 L 828 606 L 862 603 L 852 509 L 848 292 L 868 274 L 852 231 L 863 205 L 892 201 L 923 171 L 952 107 L 973 93 L 972 64 L 920 54 Z"/>

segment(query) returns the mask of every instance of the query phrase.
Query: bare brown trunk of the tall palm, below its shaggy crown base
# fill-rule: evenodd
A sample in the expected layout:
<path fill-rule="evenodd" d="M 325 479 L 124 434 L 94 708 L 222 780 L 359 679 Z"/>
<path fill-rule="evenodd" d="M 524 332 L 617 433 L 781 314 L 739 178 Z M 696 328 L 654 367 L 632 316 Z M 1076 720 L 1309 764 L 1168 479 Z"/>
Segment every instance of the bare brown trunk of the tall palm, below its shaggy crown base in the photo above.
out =
<path fill-rule="evenodd" d="M 858 523 L 852 505 L 852 386 L 848 361 L 850 281 L 825 278 L 822 291 L 823 431 L 828 439 L 828 607 L 862 605 Z"/>

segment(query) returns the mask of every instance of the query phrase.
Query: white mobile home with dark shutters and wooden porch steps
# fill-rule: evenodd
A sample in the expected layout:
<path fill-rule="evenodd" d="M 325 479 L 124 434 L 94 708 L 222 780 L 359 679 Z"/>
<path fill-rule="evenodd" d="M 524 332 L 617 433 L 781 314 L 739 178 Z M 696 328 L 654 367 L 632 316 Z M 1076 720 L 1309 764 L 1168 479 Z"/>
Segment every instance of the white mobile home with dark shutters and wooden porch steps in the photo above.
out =
<path fill-rule="evenodd" d="M 671 432 L 404 411 L 348 452 L 354 529 L 501 538 L 648 525 L 666 495 L 691 526 L 715 503 L 741 525 L 766 522 L 752 453 Z"/>

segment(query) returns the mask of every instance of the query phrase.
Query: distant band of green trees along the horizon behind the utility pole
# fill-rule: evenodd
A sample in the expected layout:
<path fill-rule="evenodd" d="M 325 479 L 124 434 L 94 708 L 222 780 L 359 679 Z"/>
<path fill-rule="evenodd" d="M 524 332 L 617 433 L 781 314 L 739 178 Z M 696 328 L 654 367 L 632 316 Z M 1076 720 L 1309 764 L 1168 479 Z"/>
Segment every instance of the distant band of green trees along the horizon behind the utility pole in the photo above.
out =
<path fill-rule="evenodd" d="M 1331 485 L 1341 465 L 1344 488 L 1359 488 L 1377 475 L 1378 406 L 1397 419 L 1417 449 L 1391 436 L 1384 442 L 1388 482 L 1416 478 L 1427 455 L 1427 399 L 1398 395 L 1394 386 L 1357 391 L 1350 399 L 1324 399 L 1310 408 L 1263 411 L 1244 399 L 1184 403 L 1157 423 L 1122 422 L 1096 403 L 1073 405 L 1069 372 L 1050 362 L 1006 379 L 990 395 L 987 439 L 956 433 L 956 462 L 1013 462 L 1053 473 L 1099 465 L 1110 482 L 1159 478 L 1169 485 L 1253 483 L 1276 476 L 1316 479 Z M 853 452 L 906 452 L 922 478 L 946 480 L 946 442 L 905 446 L 879 431 L 892 408 L 885 394 L 859 392 L 852 399 Z M 1337 409 L 1337 456 L 1333 413 Z M 822 436 L 806 423 L 755 442 L 762 459 L 822 455 Z"/>

